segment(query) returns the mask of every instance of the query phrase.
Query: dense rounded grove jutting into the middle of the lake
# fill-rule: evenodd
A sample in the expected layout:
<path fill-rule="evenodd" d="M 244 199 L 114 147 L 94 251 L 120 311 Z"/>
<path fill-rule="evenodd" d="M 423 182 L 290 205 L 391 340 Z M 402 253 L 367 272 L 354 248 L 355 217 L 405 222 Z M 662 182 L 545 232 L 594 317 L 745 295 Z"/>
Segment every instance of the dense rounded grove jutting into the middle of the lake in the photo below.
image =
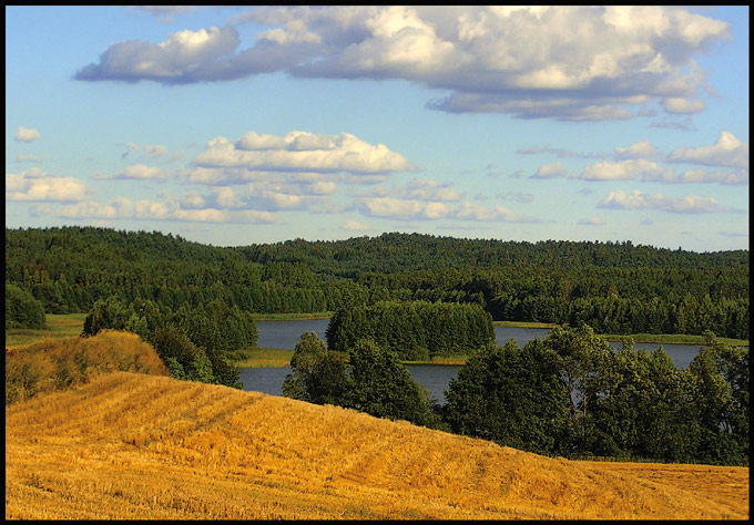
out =
<path fill-rule="evenodd" d="M 495 341 L 492 318 L 479 305 L 379 301 L 336 311 L 327 325 L 327 348 L 345 352 L 373 339 L 403 361 L 462 356 Z"/>

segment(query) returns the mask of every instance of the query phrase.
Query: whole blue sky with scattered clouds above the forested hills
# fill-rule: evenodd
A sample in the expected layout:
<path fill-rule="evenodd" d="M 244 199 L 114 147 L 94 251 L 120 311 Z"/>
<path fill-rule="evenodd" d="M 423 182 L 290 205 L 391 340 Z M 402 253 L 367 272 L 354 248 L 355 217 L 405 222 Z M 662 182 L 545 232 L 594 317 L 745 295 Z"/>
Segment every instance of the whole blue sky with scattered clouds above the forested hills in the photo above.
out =
<path fill-rule="evenodd" d="M 6 226 L 748 249 L 748 7 L 6 7 Z"/>

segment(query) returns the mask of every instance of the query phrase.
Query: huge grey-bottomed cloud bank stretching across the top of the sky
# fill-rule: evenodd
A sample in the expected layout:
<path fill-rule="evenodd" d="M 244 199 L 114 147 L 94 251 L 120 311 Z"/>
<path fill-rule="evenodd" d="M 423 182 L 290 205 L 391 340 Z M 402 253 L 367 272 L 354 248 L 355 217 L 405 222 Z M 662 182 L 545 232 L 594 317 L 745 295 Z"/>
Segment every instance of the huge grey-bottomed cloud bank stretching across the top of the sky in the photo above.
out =
<path fill-rule="evenodd" d="M 709 86 L 694 58 L 731 39 L 725 22 L 660 6 L 257 7 L 231 22 L 272 29 L 246 49 L 233 25 L 118 42 L 77 79 L 403 79 L 449 91 L 428 103 L 441 111 L 623 120 L 654 100 L 701 111 Z"/>

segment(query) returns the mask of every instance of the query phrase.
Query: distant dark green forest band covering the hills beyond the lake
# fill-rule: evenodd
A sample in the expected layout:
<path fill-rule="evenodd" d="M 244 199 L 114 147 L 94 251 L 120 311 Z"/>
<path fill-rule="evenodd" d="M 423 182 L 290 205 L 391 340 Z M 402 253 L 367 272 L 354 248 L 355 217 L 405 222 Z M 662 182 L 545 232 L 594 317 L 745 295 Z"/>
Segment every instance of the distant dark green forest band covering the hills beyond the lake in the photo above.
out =
<path fill-rule="evenodd" d="M 110 296 L 173 310 L 222 300 L 265 313 L 424 300 L 601 333 L 748 339 L 747 250 L 418 234 L 220 248 L 156 231 L 6 229 L 6 282 L 49 313 L 90 311 Z"/>

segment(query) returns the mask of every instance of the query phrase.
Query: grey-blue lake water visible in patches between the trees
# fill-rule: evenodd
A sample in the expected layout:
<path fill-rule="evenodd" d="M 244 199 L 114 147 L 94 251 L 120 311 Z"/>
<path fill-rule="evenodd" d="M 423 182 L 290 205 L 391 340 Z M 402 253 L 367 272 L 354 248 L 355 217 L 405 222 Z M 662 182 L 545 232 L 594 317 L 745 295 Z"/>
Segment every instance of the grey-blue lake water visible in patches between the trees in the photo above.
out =
<path fill-rule="evenodd" d="M 329 319 L 302 319 L 293 321 L 256 321 L 259 331 L 257 344 L 262 348 L 283 348 L 293 350 L 302 333 L 315 332 L 319 339 L 326 341 L 325 330 Z M 549 333 L 548 328 L 507 328 L 495 327 L 495 339 L 499 346 L 513 338 L 516 344 L 523 347 L 536 337 L 544 339 Z M 621 348 L 620 342 L 611 342 L 615 350 Z M 644 348 L 652 351 L 660 348 L 656 343 L 636 343 L 634 348 Z M 699 353 L 697 344 L 662 344 L 663 349 L 673 360 L 677 368 L 686 368 L 692 359 Z M 458 374 L 460 367 L 447 364 L 410 364 L 407 366 L 414 379 L 425 387 L 431 398 L 440 404 L 445 403 L 444 391 L 448 389 L 451 379 Z M 279 368 L 245 368 L 240 370 L 241 382 L 244 390 L 254 390 L 269 395 L 283 395 L 283 381 L 291 373 L 291 367 Z"/>

